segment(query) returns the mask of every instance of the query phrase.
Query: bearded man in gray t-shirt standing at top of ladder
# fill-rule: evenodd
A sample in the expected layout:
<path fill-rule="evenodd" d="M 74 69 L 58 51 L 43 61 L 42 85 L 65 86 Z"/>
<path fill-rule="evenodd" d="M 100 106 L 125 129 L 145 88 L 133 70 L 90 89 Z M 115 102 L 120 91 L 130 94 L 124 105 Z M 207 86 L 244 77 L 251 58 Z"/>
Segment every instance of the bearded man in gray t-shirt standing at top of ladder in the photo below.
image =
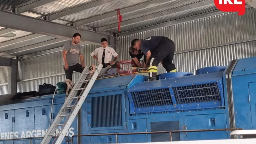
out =
<path fill-rule="evenodd" d="M 82 73 L 85 67 L 82 49 L 81 49 L 81 46 L 78 44 L 80 39 L 81 39 L 81 35 L 79 33 L 75 33 L 73 35 L 72 41 L 64 45 L 63 52 L 62 52 L 63 66 L 66 74 L 65 81 L 66 83 L 71 82 L 71 85 L 72 85 L 73 71 Z M 79 57 L 80 57 L 81 65 L 78 64 Z"/>

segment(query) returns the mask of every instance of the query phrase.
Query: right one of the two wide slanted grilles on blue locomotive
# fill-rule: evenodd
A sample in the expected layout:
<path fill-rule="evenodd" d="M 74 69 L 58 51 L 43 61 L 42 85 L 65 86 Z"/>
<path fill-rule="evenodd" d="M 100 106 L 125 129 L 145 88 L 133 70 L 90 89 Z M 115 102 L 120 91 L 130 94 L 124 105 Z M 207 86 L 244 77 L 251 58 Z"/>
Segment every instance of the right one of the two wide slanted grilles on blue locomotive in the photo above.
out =
<path fill-rule="evenodd" d="M 191 104 L 219 101 L 220 93 L 217 83 L 173 87 L 177 104 Z"/>

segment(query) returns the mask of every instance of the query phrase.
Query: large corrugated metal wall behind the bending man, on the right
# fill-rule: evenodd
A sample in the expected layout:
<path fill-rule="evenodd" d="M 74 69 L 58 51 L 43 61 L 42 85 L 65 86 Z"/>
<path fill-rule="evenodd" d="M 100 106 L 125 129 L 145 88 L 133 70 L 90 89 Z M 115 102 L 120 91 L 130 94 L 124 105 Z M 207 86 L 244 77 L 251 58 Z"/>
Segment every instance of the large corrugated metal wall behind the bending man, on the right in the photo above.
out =
<path fill-rule="evenodd" d="M 255 8 L 249 8 L 243 16 L 238 16 L 237 13 L 226 13 L 123 36 L 119 38 L 117 53 L 120 54 L 120 59 L 129 60 L 131 58 L 128 48 L 133 39 L 164 35 L 175 42 L 177 53 L 186 51 L 174 55 L 173 61 L 179 72 L 192 72 L 195 74 L 198 68 L 225 66 L 232 59 L 256 56 L 255 41 L 194 52 L 189 51 L 194 48 L 255 38 L 255 12 Z M 161 64 L 158 65 L 158 69 L 159 73 L 166 72 Z"/>

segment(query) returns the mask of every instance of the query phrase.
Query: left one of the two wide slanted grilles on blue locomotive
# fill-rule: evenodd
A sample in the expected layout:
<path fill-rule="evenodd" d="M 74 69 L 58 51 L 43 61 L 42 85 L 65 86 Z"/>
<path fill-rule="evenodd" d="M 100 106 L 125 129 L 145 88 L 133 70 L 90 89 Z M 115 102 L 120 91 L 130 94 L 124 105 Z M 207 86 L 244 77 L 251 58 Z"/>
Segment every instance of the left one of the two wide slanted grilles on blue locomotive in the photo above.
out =
<path fill-rule="evenodd" d="M 134 107 L 153 107 L 172 105 L 172 98 L 168 88 L 131 92 Z"/>

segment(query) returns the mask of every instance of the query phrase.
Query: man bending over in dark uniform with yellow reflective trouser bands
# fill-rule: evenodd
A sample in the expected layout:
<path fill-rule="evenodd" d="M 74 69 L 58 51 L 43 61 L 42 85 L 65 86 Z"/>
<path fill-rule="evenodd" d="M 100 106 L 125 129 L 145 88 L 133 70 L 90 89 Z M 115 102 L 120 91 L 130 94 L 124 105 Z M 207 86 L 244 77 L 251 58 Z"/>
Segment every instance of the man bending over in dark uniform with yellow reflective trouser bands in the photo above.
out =
<path fill-rule="evenodd" d="M 169 38 L 152 36 L 142 40 L 134 39 L 131 42 L 130 52 L 134 54 L 136 50 L 141 50 L 146 54 L 147 62 L 143 67 L 146 68 L 149 64 L 149 80 L 157 79 L 157 67 L 160 62 L 162 62 L 167 72 L 177 72 L 175 65 L 172 63 L 175 44 Z"/>

